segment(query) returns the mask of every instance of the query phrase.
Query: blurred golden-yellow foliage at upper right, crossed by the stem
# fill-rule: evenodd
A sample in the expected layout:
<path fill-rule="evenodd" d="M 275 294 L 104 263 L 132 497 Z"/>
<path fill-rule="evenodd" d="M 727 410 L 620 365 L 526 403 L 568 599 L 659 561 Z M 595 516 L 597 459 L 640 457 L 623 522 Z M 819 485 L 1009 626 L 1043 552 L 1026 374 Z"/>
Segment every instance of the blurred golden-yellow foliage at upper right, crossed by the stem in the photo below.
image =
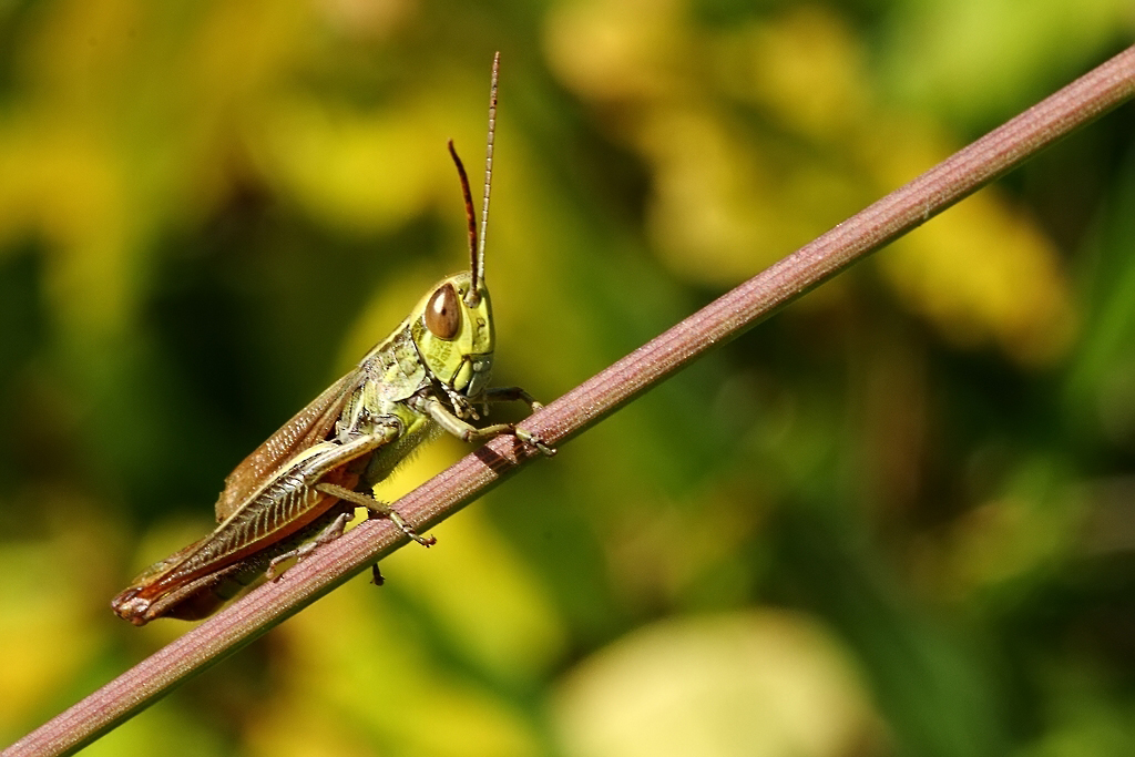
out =
<path fill-rule="evenodd" d="M 569 6 L 549 24 L 548 54 L 649 165 L 651 239 L 690 281 L 753 276 L 958 146 L 882 104 L 860 44 L 830 7 L 793 7 L 721 35 L 690 33 L 673 3 L 646 23 L 630 7 Z M 597 60 L 611 67 L 603 82 L 648 78 L 644 56 L 609 51 L 611 40 L 645 28 L 690 51 L 678 83 L 595 84 Z M 992 343 L 1025 363 L 1065 353 L 1077 317 L 1059 255 L 1034 222 L 985 192 L 931 229 L 881 254 L 884 280 L 911 311 L 956 344 Z"/>

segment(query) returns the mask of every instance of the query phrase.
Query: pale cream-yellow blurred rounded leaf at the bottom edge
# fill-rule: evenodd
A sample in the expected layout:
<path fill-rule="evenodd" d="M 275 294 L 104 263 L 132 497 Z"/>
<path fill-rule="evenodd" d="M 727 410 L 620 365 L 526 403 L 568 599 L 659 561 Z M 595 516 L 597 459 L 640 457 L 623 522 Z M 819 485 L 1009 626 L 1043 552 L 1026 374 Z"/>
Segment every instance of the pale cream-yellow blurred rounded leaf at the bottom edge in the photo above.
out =
<path fill-rule="evenodd" d="M 783 611 L 644 626 L 578 665 L 555 714 L 569 757 L 885 754 L 848 655 Z"/>

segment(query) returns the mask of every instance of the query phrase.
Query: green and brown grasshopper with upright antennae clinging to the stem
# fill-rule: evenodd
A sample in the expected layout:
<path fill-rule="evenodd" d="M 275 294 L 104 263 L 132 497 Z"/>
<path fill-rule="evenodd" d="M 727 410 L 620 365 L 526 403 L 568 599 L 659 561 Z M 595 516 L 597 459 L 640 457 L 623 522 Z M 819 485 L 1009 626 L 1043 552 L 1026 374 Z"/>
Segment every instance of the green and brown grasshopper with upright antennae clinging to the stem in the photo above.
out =
<path fill-rule="evenodd" d="M 477 428 L 474 406 L 523 401 L 519 387 L 488 388 L 495 335 L 485 285 L 501 54 L 493 61 L 489 135 L 481 228 L 477 233 L 469 177 L 449 141 L 469 222 L 470 269 L 449 276 L 346 376 L 268 438 L 225 479 L 217 528 L 151 565 L 111 600 L 135 625 L 158 617 L 200 620 L 261 573 L 278 578 L 280 563 L 303 558 L 343 533 L 358 506 L 387 518 L 409 538 L 430 546 L 389 505 L 367 494 L 418 445 L 442 431 L 464 441 L 513 434 L 550 455 L 554 449 L 511 423 Z M 375 566 L 376 582 L 380 582 Z"/>

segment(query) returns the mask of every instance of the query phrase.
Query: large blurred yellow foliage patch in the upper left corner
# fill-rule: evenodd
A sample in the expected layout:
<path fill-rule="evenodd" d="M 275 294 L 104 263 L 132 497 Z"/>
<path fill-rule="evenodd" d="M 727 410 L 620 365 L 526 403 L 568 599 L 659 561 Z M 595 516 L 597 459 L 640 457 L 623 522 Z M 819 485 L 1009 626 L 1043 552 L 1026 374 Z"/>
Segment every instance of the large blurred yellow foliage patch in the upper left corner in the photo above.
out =
<path fill-rule="evenodd" d="M 211 212 L 254 158 L 279 188 L 347 227 L 420 211 L 439 171 L 415 180 L 415 155 L 444 138 L 419 125 L 445 120 L 352 120 L 280 86 L 319 54 L 313 25 L 346 16 L 378 34 L 411 12 L 384 6 L 43 6 L 17 48 L 26 96 L 0 113 L 0 242 L 48 244 L 51 312 L 67 333 L 99 340 L 132 329 L 154 234 Z"/>

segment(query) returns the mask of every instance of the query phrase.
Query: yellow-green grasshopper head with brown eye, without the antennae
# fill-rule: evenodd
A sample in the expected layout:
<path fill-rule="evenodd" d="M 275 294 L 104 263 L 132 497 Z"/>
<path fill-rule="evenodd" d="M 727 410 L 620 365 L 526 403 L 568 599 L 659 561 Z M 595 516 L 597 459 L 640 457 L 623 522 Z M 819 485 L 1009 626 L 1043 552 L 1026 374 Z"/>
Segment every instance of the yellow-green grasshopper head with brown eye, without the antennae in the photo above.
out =
<path fill-rule="evenodd" d="M 493 372 L 493 305 L 485 279 L 473 288 L 472 274 L 440 281 L 414 310 L 410 327 L 429 372 L 452 390 L 474 398 Z M 470 304 L 472 303 L 472 304 Z"/>

